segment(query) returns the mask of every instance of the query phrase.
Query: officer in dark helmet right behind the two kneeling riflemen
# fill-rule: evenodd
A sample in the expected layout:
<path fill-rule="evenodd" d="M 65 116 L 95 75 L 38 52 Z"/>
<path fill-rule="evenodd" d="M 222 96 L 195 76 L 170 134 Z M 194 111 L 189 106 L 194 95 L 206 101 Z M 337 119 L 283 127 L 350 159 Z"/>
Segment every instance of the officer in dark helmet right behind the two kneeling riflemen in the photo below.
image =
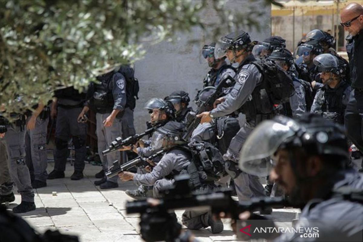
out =
<path fill-rule="evenodd" d="M 174 91 L 172 94 L 164 98 L 165 101 L 169 101 L 174 105 L 175 109 L 175 121 L 187 122 L 185 120 L 188 112 L 192 112 L 192 107 L 188 107 L 190 98 L 189 94 L 185 91 Z"/>

